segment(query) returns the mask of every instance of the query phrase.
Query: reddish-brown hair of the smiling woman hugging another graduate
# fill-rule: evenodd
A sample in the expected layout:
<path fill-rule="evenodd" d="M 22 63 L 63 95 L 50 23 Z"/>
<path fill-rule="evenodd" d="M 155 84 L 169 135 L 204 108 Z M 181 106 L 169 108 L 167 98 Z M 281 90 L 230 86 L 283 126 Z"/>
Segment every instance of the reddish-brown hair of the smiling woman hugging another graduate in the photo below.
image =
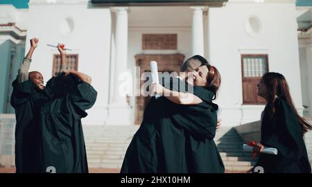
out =
<path fill-rule="evenodd" d="M 207 86 L 205 88 L 214 92 L 214 98 L 212 100 L 215 100 L 221 84 L 220 72 L 215 66 L 208 64 L 208 62 L 202 66 L 207 66 L 209 70 L 207 74 Z"/>

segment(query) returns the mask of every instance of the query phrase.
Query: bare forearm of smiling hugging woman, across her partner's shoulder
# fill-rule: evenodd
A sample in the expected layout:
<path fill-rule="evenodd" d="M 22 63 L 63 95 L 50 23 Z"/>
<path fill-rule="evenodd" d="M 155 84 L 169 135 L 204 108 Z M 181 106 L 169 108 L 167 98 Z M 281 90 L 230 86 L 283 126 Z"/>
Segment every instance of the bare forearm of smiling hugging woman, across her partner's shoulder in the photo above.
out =
<path fill-rule="evenodd" d="M 178 105 L 197 105 L 202 103 L 202 100 L 194 94 L 172 91 L 156 83 L 152 83 L 151 87 L 155 94 L 162 95 Z"/>

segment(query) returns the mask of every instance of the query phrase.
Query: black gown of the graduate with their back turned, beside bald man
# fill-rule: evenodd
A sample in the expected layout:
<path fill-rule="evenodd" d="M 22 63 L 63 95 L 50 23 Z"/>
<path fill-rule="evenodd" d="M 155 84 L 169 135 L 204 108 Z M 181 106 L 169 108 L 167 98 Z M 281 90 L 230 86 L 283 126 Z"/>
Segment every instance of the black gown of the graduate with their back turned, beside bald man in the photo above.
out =
<path fill-rule="evenodd" d="M 81 81 L 73 94 L 46 103 L 40 116 L 40 172 L 88 172 L 81 118 L 96 101 L 97 92 Z M 53 171 L 53 169 L 51 170 Z"/>

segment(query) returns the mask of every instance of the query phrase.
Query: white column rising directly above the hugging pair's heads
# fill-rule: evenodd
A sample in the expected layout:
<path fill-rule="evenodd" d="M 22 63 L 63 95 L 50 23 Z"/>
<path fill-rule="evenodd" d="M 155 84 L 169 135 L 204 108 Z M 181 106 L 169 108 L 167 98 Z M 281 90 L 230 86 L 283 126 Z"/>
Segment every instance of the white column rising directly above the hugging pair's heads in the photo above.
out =
<path fill-rule="evenodd" d="M 193 9 L 192 21 L 192 55 L 204 56 L 204 26 L 202 20 L 202 10 L 204 7 L 195 6 Z"/>

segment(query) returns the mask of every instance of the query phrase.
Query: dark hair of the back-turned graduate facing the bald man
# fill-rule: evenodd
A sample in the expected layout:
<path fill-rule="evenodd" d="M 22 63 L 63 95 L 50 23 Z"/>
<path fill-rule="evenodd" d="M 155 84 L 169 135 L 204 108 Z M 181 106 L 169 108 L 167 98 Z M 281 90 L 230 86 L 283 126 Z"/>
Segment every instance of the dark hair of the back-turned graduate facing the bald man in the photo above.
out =
<path fill-rule="evenodd" d="M 73 91 L 78 87 L 79 80 L 74 75 L 65 75 L 65 73 L 60 73 L 53 80 L 51 87 L 53 91 L 54 98 L 63 98 L 68 94 L 72 94 Z"/>

